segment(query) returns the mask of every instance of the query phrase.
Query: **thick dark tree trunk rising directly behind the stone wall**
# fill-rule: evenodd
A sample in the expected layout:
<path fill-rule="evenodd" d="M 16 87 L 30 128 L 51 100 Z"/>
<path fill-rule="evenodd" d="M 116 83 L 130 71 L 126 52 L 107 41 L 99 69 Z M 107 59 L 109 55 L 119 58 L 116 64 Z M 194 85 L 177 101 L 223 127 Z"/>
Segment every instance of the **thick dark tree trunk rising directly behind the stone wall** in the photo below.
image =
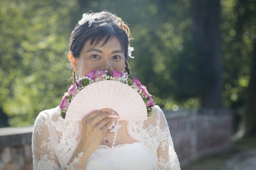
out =
<path fill-rule="evenodd" d="M 219 109 L 222 107 L 220 1 L 192 1 L 191 13 L 196 55 L 202 60 L 198 69 L 208 87 L 201 92 L 201 107 Z"/>

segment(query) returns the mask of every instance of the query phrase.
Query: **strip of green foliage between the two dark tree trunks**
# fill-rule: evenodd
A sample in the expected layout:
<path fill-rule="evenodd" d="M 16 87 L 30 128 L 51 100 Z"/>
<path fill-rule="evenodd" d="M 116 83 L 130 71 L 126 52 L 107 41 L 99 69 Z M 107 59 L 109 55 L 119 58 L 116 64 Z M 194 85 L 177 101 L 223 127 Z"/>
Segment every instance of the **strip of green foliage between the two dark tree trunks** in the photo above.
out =
<path fill-rule="evenodd" d="M 221 1 L 224 63 L 223 107 L 243 116 L 256 39 L 256 1 Z"/>

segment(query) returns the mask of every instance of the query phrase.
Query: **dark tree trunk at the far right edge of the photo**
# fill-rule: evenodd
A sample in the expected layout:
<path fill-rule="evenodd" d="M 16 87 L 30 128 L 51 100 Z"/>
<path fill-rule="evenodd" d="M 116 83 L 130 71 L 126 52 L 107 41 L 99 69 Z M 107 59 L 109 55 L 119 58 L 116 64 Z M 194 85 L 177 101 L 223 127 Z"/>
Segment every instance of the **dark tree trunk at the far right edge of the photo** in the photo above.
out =
<path fill-rule="evenodd" d="M 240 0 L 237 6 L 238 10 L 244 9 L 238 17 L 238 25 L 237 27 L 241 30 L 241 23 L 242 26 L 247 26 L 247 32 L 243 32 L 243 36 L 240 34 L 241 37 L 249 38 L 251 35 L 251 52 L 248 54 L 250 57 L 250 80 L 249 85 L 246 89 L 246 96 L 245 96 L 245 109 L 244 109 L 244 116 L 243 116 L 243 127 L 241 129 L 245 130 L 245 135 L 256 135 L 256 43 L 255 43 L 255 32 L 256 32 L 256 1 L 248 1 L 248 0 Z M 242 7 L 242 8 L 241 8 Z M 254 22 L 251 22 L 253 21 Z M 246 37 L 248 33 L 248 37 Z M 254 36 L 254 37 L 253 37 Z"/>

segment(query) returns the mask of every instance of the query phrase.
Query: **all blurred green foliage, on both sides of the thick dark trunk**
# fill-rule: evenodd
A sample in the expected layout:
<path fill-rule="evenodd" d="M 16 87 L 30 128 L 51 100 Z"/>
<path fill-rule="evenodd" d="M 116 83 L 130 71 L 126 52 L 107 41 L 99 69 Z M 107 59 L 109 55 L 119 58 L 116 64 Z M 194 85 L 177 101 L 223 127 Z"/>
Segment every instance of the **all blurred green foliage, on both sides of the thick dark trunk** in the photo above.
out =
<path fill-rule="evenodd" d="M 222 0 L 221 5 L 223 106 L 238 108 L 249 81 L 256 18 L 241 28 L 237 18 L 256 7 L 255 2 L 239 7 L 238 0 Z M 210 70 L 198 69 L 207 58 L 194 50 L 190 7 L 189 0 L 3 0 L 0 108 L 10 117 L 10 125 L 33 124 L 40 111 L 59 105 L 68 89 L 69 37 L 82 14 L 90 10 L 108 10 L 129 23 L 135 47 L 131 70 L 156 96 L 158 105 L 173 110 L 200 108 L 200 95 L 211 87 L 214 76 Z"/>

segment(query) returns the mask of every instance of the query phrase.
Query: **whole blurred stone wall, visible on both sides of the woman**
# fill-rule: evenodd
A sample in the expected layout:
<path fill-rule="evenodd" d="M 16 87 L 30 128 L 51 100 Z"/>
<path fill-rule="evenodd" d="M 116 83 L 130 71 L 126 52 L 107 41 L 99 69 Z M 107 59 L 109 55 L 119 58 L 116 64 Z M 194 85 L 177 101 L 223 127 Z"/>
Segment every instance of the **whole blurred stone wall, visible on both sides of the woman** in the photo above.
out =
<path fill-rule="evenodd" d="M 164 113 L 181 166 L 233 147 L 230 111 L 164 111 Z M 0 128 L 0 170 L 33 169 L 32 131 L 33 126 Z"/>

